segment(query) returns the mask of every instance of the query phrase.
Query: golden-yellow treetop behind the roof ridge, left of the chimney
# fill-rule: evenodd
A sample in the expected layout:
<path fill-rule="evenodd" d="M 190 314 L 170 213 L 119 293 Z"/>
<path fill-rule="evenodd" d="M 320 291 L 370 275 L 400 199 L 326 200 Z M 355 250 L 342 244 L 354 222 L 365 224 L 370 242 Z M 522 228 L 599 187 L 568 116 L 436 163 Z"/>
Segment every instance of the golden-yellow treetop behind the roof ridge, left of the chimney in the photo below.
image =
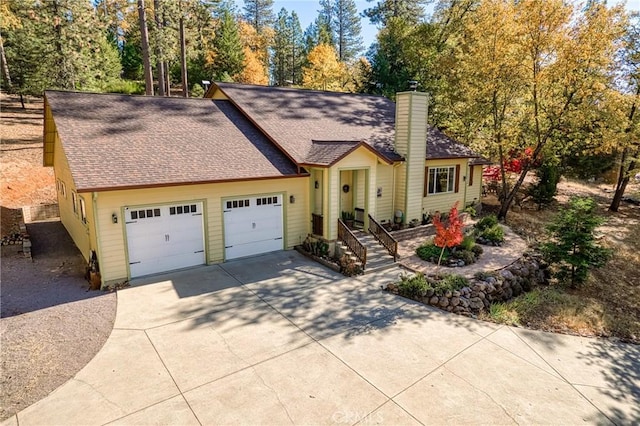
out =
<path fill-rule="evenodd" d="M 327 44 L 314 47 L 309 56 L 308 67 L 303 67 L 302 82 L 310 89 L 344 91 L 346 66 L 338 61 L 336 50 Z"/>

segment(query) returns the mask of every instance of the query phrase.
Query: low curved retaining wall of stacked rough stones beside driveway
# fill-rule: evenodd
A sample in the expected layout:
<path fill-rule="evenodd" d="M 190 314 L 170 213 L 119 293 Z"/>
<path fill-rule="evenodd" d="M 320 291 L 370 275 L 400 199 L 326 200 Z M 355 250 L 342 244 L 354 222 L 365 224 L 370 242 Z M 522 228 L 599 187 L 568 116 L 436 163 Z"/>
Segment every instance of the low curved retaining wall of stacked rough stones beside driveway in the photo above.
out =
<path fill-rule="evenodd" d="M 469 280 L 469 286 L 458 291 L 436 294 L 428 289 L 415 299 L 427 305 L 461 315 L 475 315 L 488 309 L 493 302 L 504 302 L 520 294 L 531 291 L 549 280 L 548 265 L 539 255 L 525 254 L 513 264 L 495 272 L 482 274 Z M 398 286 L 387 287 L 398 293 Z"/>

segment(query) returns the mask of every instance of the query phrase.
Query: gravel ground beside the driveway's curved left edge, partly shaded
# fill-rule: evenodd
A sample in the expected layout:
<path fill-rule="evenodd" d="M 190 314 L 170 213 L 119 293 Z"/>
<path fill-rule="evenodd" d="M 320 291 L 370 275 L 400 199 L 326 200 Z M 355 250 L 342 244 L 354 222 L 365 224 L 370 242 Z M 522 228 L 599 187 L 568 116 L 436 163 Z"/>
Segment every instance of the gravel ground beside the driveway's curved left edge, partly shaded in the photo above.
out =
<path fill-rule="evenodd" d="M 27 224 L 33 262 L 2 247 L 0 421 L 72 378 L 102 348 L 115 293 L 87 291 L 85 262 L 59 221 Z"/>

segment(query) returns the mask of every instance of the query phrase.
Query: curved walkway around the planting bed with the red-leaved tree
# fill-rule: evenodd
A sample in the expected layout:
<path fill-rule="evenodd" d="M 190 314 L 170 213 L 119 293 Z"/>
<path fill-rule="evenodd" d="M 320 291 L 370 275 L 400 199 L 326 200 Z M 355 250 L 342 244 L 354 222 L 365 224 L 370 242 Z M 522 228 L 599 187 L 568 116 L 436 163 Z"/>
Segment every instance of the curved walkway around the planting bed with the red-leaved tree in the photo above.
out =
<path fill-rule="evenodd" d="M 513 232 L 508 226 L 500 225 L 504 229 L 504 244 L 501 246 L 482 246 L 484 252 L 478 261 L 472 265 L 462 268 L 451 268 L 448 266 L 435 265 L 426 260 L 422 260 L 416 254 L 416 249 L 430 241 L 433 237 L 412 238 L 398 243 L 399 263 L 405 268 L 414 272 L 422 272 L 425 275 L 458 274 L 467 278 L 473 278 L 478 272 L 497 271 L 511 265 L 522 257 L 527 251 L 527 242 L 518 234 Z"/>

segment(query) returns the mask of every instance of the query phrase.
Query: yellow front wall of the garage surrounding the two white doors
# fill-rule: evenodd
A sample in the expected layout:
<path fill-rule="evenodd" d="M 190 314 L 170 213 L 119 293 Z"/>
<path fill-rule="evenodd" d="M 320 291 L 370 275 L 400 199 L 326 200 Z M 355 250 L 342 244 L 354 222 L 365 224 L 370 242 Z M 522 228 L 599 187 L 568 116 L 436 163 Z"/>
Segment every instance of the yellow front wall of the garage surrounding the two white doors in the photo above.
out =
<path fill-rule="evenodd" d="M 123 220 L 125 206 L 167 204 L 181 201 L 204 202 L 207 262 L 224 260 L 224 230 L 222 200 L 235 196 L 283 193 L 285 247 L 301 244 L 310 232 L 309 179 L 290 178 L 236 183 L 175 186 L 126 191 L 108 191 L 98 194 L 97 218 L 100 229 L 100 268 L 104 282 L 123 280 L 128 277 L 126 236 Z M 289 196 L 295 203 L 289 202 Z M 113 224 L 111 215 L 118 215 Z"/>

